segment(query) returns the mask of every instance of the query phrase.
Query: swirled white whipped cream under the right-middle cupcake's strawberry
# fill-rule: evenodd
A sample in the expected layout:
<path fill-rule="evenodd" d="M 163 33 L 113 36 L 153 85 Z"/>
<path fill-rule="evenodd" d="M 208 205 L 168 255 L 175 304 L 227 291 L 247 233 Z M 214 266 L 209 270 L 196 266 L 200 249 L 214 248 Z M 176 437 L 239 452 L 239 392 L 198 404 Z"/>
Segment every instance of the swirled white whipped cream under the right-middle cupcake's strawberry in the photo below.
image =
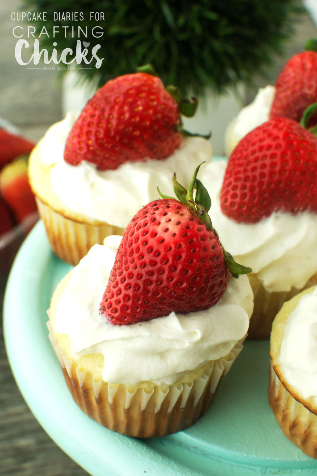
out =
<path fill-rule="evenodd" d="M 211 197 L 209 216 L 224 248 L 250 266 L 268 291 L 303 288 L 317 271 L 317 214 L 274 212 L 256 224 L 237 223 L 220 208 L 226 162 L 207 164 L 202 183 Z"/>

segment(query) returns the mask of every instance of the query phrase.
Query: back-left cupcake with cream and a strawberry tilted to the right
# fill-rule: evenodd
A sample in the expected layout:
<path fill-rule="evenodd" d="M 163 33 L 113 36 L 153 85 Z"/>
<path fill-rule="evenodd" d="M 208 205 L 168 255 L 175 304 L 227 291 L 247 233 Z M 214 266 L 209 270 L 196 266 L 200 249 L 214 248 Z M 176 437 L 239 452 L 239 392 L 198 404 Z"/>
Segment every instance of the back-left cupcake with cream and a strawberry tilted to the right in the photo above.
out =
<path fill-rule="evenodd" d="M 106 236 L 122 235 L 156 186 L 172 192 L 174 171 L 189 185 L 188 170 L 210 160 L 208 140 L 183 139 L 181 114 L 193 111 L 171 94 L 152 74 L 121 76 L 38 142 L 29 181 L 59 258 L 75 265 Z"/>

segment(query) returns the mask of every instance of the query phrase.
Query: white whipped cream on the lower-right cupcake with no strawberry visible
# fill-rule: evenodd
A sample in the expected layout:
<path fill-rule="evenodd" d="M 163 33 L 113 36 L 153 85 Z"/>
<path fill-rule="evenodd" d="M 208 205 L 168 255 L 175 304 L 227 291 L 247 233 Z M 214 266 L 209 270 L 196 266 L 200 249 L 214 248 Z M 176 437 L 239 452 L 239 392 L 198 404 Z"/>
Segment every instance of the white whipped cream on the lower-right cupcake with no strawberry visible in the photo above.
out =
<path fill-rule="evenodd" d="M 279 363 L 288 384 L 317 403 L 317 288 L 302 296 L 284 327 Z"/>

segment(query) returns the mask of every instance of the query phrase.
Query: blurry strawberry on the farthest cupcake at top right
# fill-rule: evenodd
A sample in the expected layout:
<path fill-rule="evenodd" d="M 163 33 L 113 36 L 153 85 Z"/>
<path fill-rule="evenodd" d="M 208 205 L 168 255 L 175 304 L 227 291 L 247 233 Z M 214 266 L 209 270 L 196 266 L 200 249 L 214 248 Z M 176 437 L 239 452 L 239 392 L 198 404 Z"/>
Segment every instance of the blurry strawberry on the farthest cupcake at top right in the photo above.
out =
<path fill-rule="evenodd" d="M 317 52 L 303 51 L 286 63 L 276 82 L 269 119 L 285 117 L 299 122 L 304 110 L 317 101 Z M 317 113 L 308 123 L 317 124 Z"/>

